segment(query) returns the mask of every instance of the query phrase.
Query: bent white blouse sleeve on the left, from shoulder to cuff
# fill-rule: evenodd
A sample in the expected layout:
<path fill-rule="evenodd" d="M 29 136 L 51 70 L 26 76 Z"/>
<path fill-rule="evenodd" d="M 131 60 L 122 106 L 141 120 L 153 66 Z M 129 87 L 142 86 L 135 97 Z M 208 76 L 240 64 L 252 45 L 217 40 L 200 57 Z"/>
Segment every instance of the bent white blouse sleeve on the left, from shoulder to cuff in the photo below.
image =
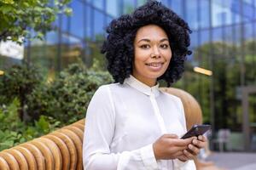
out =
<path fill-rule="evenodd" d="M 86 170 L 158 169 L 152 144 L 137 150 L 112 153 L 115 110 L 108 86 L 102 86 L 90 101 L 85 119 L 83 162 Z"/>

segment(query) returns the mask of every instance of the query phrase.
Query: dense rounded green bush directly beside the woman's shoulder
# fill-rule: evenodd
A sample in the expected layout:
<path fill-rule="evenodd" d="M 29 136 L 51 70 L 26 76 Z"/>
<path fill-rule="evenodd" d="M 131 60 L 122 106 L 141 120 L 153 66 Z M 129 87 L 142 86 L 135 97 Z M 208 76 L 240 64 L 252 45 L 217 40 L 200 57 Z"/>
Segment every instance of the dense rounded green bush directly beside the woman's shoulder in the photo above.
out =
<path fill-rule="evenodd" d="M 84 118 L 92 95 L 102 84 L 112 82 L 106 71 L 92 71 L 83 64 L 70 65 L 48 86 L 34 88 L 29 95 L 32 116 L 51 116 L 63 124 Z"/>

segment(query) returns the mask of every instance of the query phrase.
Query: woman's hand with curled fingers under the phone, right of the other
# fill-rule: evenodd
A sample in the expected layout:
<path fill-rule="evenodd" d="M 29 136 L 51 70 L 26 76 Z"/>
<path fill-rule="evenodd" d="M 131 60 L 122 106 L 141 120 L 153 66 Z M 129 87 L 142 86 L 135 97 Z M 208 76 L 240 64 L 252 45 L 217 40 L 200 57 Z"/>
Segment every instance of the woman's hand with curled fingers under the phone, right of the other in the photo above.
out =
<path fill-rule="evenodd" d="M 192 143 L 189 144 L 189 149 L 183 150 L 183 155 L 178 156 L 180 161 L 188 161 L 194 159 L 200 152 L 201 148 L 206 147 L 207 145 L 207 138 L 200 135 L 197 139 L 193 139 Z"/>

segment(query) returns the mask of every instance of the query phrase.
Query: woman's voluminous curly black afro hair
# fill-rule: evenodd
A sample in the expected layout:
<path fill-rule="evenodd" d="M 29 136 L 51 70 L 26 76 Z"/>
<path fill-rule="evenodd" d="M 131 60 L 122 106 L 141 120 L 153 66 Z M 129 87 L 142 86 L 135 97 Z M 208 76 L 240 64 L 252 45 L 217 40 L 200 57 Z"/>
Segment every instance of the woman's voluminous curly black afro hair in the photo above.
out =
<path fill-rule="evenodd" d="M 108 37 L 102 45 L 102 54 L 108 59 L 108 71 L 115 82 L 121 84 L 132 73 L 134 61 L 134 47 L 137 30 L 147 25 L 160 26 L 169 38 L 172 48 L 171 62 L 161 77 L 169 87 L 183 74 L 186 55 L 191 54 L 188 24 L 175 14 L 170 8 L 160 2 L 150 0 L 143 6 L 136 8 L 132 14 L 121 15 L 112 20 L 107 27 Z"/>

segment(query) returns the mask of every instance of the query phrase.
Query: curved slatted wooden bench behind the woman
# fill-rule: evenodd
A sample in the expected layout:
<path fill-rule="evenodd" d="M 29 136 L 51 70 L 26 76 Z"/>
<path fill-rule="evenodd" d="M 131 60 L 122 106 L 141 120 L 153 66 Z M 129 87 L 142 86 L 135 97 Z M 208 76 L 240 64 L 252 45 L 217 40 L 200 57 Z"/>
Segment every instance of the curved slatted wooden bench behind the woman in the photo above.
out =
<path fill-rule="evenodd" d="M 187 92 L 161 88 L 182 99 L 187 128 L 202 122 L 201 108 Z M 0 152 L 0 170 L 80 170 L 83 169 L 82 145 L 84 119 L 59 130 Z"/>

